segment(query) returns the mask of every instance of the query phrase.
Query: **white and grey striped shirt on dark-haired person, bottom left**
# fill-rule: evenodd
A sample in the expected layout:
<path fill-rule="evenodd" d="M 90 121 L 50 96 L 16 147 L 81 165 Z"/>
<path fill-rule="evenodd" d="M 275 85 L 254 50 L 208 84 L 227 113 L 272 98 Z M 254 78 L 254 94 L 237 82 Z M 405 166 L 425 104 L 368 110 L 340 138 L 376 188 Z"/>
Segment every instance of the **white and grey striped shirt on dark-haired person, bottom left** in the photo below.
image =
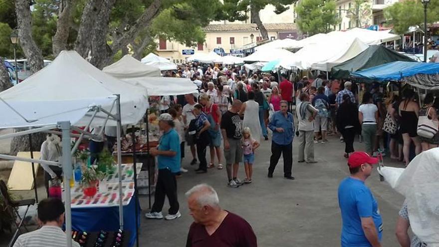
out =
<path fill-rule="evenodd" d="M 59 227 L 43 226 L 30 233 L 18 237 L 13 247 L 65 247 L 65 233 Z M 72 241 L 72 247 L 80 247 Z"/>

